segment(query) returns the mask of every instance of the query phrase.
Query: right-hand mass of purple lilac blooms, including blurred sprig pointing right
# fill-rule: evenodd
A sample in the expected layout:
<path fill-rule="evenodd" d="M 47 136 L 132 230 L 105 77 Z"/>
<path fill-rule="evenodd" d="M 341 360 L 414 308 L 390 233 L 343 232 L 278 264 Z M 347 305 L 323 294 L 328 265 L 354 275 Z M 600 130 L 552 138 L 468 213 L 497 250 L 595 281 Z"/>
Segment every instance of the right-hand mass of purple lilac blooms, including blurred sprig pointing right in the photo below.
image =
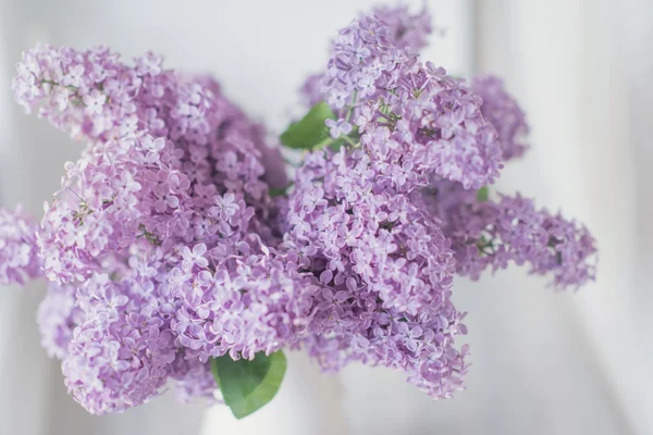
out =
<path fill-rule="evenodd" d="M 381 9 L 354 21 L 304 85 L 337 120 L 325 122 L 332 149 L 296 173 L 284 243 L 323 288 L 308 352 L 328 370 L 350 360 L 399 369 L 440 398 L 467 371 L 454 274 L 529 262 L 556 287 L 579 286 L 594 277 L 595 249 L 587 229 L 521 197 L 477 200 L 525 151 L 528 126 L 498 79 L 469 88 L 418 61 L 424 15 Z"/>

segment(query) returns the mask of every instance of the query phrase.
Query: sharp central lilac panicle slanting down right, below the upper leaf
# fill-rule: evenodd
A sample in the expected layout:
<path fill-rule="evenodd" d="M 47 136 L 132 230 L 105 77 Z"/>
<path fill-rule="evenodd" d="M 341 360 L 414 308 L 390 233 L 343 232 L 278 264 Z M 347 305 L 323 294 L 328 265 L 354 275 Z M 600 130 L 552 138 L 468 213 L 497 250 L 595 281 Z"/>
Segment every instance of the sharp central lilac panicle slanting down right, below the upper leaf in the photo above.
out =
<path fill-rule="evenodd" d="M 286 240 L 304 266 L 325 262 L 338 281 L 354 278 L 385 308 L 436 312 L 452 285 L 449 243 L 429 213 L 391 182 L 378 183 L 373 167 L 360 150 L 308 157 L 289 194 Z"/>

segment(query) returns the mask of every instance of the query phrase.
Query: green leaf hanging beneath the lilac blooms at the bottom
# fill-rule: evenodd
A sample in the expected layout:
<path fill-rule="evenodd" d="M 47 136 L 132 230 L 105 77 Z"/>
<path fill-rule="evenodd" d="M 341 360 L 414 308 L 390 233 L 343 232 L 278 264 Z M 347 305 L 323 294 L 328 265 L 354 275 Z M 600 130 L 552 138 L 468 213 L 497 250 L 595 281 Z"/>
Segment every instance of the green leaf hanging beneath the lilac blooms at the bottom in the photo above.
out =
<path fill-rule="evenodd" d="M 270 356 L 259 352 L 251 361 L 234 361 L 225 355 L 213 358 L 211 368 L 224 402 L 236 419 L 242 419 L 276 395 L 285 374 L 286 359 L 281 350 Z"/>

